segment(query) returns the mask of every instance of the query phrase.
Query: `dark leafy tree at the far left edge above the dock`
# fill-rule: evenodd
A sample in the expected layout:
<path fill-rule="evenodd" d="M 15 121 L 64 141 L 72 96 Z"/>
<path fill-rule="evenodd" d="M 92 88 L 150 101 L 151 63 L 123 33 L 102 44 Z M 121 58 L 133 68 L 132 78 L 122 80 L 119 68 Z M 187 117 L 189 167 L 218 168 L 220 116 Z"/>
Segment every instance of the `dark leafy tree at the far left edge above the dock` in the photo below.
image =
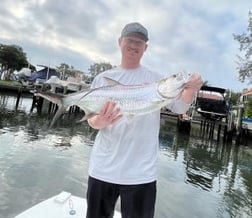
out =
<path fill-rule="evenodd" d="M 28 66 L 26 54 L 17 45 L 0 44 L 1 73 L 6 72 L 7 79 L 15 71 Z"/>

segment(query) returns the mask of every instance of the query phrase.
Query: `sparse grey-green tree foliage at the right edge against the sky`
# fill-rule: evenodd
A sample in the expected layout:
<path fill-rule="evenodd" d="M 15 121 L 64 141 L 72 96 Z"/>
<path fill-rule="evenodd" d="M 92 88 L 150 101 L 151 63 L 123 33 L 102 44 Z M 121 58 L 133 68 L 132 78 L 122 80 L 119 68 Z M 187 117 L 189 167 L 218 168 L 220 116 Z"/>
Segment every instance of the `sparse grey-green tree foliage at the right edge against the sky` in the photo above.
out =
<path fill-rule="evenodd" d="M 234 39 L 240 43 L 240 51 L 243 52 L 244 57 L 237 55 L 238 57 L 238 72 L 239 80 L 244 82 L 248 80 L 248 83 L 252 83 L 252 12 L 249 12 L 249 24 L 247 33 L 240 35 L 233 34 Z"/>

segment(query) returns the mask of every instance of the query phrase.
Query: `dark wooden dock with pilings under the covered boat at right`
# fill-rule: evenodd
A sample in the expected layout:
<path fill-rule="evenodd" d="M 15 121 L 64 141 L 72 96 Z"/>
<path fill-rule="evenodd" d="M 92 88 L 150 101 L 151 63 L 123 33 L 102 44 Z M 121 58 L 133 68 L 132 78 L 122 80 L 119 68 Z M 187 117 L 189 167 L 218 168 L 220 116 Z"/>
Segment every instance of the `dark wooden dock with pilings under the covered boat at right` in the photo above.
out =
<path fill-rule="evenodd" d="M 232 116 L 233 111 L 238 111 L 238 116 Z M 184 134 L 192 134 L 191 129 L 195 127 L 202 138 L 209 140 L 216 140 L 219 142 L 234 142 L 235 144 L 247 144 L 248 139 L 252 136 L 252 122 L 248 126 L 244 126 L 241 121 L 242 108 L 236 106 L 230 109 L 230 115 L 221 120 L 210 120 L 202 117 L 197 113 L 197 107 L 192 105 L 187 116 L 183 117 L 182 114 L 176 114 L 168 111 L 167 109 L 161 110 L 161 117 L 163 119 L 176 120 L 177 129 Z M 244 128 L 245 127 L 245 128 Z"/>

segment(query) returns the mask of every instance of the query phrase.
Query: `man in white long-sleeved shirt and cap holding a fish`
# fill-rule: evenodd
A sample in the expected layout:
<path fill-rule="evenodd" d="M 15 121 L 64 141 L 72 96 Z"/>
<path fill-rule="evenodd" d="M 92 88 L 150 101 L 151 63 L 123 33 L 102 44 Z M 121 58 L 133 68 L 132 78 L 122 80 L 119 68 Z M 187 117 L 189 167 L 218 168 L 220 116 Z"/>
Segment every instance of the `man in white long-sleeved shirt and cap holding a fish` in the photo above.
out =
<path fill-rule="evenodd" d="M 147 41 L 145 27 L 127 24 L 118 41 L 120 66 L 99 74 L 92 88 L 106 85 L 104 77 L 126 85 L 159 80 L 161 75 L 140 64 Z M 201 85 L 201 77 L 193 74 L 180 99 L 168 107 L 174 112 L 186 112 Z M 128 118 L 114 102 L 108 101 L 88 123 L 99 132 L 90 158 L 87 218 L 113 217 L 119 196 L 122 218 L 153 218 L 160 112 Z"/>

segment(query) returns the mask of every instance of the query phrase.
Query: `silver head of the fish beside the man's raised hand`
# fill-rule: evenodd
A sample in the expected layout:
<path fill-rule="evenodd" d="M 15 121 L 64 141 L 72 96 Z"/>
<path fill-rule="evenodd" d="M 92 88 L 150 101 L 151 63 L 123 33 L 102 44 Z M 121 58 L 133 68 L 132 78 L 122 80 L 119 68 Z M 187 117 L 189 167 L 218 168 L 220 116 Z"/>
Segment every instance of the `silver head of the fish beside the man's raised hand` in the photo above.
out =
<path fill-rule="evenodd" d="M 176 98 L 181 94 L 188 80 L 189 75 L 186 73 L 172 74 L 159 81 L 158 93 L 164 98 Z"/>

